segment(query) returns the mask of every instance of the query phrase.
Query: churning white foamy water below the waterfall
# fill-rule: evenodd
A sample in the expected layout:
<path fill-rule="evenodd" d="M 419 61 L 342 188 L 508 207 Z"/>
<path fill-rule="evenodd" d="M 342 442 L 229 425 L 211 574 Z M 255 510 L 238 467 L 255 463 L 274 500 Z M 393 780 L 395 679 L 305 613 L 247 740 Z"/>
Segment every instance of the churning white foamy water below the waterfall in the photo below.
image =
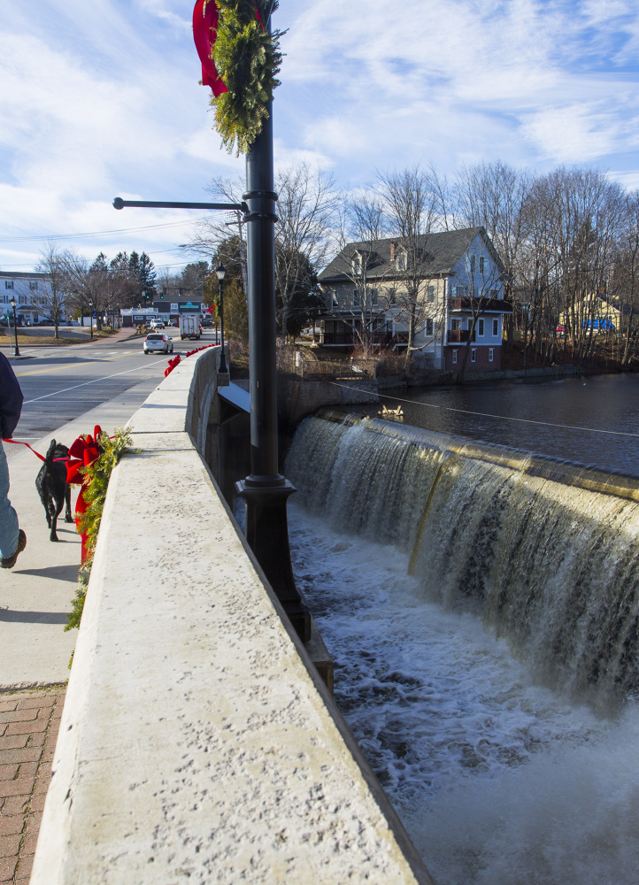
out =
<path fill-rule="evenodd" d="M 634 885 L 636 705 L 535 685 L 477 614 L 427 601 L 407 553 L 289 517 L 335 700 L 437 885 Z"/>

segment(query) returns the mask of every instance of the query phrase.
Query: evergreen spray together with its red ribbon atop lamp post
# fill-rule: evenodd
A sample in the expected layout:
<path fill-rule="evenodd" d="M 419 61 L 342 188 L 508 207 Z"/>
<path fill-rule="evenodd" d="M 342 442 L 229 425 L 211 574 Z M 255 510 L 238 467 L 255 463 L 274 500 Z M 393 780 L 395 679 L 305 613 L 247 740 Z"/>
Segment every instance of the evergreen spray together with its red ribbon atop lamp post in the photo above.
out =
<path fill-rule="evenodd" d="M 246 153 L 268 117 L 280 83 L 280 38 L 265 27 L 277 0 L 197 0 L 193 34 L 202 83 L 212 89 L 215 126 L 227 150 Z"/>

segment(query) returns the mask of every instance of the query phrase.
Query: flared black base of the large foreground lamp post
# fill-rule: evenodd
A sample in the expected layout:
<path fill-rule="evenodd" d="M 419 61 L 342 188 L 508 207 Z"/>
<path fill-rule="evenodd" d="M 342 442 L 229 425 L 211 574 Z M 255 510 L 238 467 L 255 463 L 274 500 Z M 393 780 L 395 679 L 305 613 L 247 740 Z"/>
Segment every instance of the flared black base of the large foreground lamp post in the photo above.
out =
<path fill-rule="evenodd" d="M 281 480 L 280 484 L 277 483 Z M 296 588 L 290 565 L 286 502 L 296 490 L 283 477 L 252 477 L 235 483 L 246 503 L 246 540 L 303 643 L 311 639 L 311 613 Z"/>

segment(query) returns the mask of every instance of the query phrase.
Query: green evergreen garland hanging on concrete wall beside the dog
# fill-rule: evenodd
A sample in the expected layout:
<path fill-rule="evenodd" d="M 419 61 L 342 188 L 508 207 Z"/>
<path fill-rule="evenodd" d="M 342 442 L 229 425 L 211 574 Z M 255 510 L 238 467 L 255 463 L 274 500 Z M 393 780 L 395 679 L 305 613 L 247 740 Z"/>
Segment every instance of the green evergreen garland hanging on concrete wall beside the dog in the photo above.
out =
<path fill-rule="evenodd" d="M 131 435 L 129 428 L 116 427 L 113 439 L 109 439 L 108 435 L 102 433 L 98 436 L 97 442 L 100 443 L 102 454 L 99 458 L 82 467 L 83 476 L 89 477 L 89 485 L 84 490 L 84 499 L 89 504 L 87 510 L 82 514 L 80 522 L 81 532 L 87 533 L 87 552 L 86 560 L 80 566 L 78 573 L 78 588 L 71 602 L 71 612 L 67 617 L 65 630 L 73 630 L 74 627 L 80 627 L 82 610 L 84 609 L 84 600 L 87 596 L 87 587 L 89 586 L 89 575 L 91 566 L 93 566 L 93 555 L 96 551 L 97 533 L 100 529 L 100 520 L 104 510 L 104 499 L 106 498 L 106 490 L 109 486 L 109 479 L 119 459 L 124 452 L 131 446 Z"/>

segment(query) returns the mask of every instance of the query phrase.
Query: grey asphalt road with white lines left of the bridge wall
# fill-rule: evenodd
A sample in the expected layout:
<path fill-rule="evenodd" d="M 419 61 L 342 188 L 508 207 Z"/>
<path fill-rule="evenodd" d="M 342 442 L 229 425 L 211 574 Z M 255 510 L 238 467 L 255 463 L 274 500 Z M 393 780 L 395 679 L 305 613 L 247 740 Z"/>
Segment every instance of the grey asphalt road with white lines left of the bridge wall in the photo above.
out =
<path fill-rule="evenodd" d="M 179 331 L 173 328 L 166 329 L 166 333 L 173 339 L 174 354 L 214 342 L 213 330 L 204 332 L 200 341 L 181 341 Z M 142 338 L 67 347 L 21 346 L 20 358 L 9 356 L 6 349 L 3 352 L 12 363 L 25 397 L 13 438 L 25 442 L 50 434 L 133 387 L 139 390 L 142 404 L 163 379 L 168 359 L 166 354 L 145 355 Z"/>

